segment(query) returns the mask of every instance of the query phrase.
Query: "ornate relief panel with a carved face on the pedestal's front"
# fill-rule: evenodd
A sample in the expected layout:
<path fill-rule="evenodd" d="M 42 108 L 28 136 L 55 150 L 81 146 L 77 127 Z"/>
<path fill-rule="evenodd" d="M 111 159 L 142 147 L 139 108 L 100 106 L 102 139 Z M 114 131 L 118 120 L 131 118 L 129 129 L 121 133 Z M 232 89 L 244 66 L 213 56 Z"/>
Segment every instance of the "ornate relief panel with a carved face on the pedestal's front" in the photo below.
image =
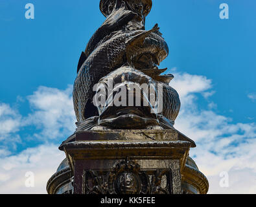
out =
<path fill-rule="evenodd" d="M 163 186 L 165 177 L 165 186 Z M 85 194 L 171 194 L 171 170 L 157 170 L 149 179 L 139 164 L 122 160 L 112 171 L 84 171 Z"/>

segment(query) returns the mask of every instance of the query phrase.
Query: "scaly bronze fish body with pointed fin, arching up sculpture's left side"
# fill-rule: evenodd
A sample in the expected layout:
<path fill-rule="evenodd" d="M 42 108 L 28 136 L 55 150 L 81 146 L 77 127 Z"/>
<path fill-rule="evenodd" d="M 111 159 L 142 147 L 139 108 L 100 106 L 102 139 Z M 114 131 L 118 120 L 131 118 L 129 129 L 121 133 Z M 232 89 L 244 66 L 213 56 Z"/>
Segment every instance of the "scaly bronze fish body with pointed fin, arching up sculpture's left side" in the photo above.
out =
<path fill-rule="evenodd" d="M 127 58 L 127 55 L 135 45 L 141 45 L 141 47 L 136 47 L 138 49 L 143 48 L 144 51 L 143 43 L 146 37 L 157 30 L 159 28 L 156 25 L 152 30 L 148 31 L 115 32 L 111 39 L 108 39 L 91 52 L 82 64 L 74 83 L 73 102 L 78 122 L 82 122 L 91 116 L 97 116 L 97 107 L 93 105 L 93 96 L 95 94 L 93 86 L 99 82 L 100 78 L 131 60 L 130 57 Z M 148 51 L 154 49 L 154 45 L 150 45 Z M 139 51 L 137 54 L 140 54 Z"/>

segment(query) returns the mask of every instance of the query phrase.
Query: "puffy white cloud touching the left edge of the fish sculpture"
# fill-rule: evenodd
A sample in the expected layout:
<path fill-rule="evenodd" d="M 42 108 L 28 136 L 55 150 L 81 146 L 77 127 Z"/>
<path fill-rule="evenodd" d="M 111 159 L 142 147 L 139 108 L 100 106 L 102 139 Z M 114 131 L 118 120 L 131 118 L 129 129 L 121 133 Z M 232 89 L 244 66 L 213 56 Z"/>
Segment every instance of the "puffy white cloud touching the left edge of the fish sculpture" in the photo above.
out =
<path fill-rule="evenodd" d="M 40 133 L 33 136 L 40 139 L 65 138 L 75 131 L 73 110 L 73 87 L 65 91 L 49 87 L 39 87 L 28 97 L 32 113 L 25 118 L 27 125 L 36 125 Z"/>

